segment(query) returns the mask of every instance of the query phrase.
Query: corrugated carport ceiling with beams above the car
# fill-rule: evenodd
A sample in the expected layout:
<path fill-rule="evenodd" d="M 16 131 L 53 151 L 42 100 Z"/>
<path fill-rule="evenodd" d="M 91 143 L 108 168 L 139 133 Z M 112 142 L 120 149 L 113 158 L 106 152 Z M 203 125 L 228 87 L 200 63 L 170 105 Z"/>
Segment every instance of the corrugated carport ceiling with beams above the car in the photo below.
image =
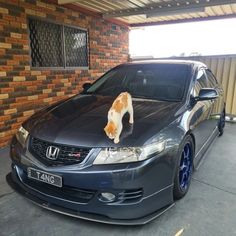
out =
<path fill-rule="evenodd" d="M 58 0 L 130 26 L 236 17 L 236 0 Z"/>

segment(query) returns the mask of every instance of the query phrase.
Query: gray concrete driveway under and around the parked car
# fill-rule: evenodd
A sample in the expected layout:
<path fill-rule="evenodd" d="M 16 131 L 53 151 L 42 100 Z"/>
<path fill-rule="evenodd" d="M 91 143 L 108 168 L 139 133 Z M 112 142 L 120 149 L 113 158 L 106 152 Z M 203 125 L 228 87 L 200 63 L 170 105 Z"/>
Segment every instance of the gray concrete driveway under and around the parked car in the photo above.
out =
<path fill-rule="evenodd" d="M 112 226 L 41 209 L 5 181 L 8 149 L 0 150 L 0 235 L 236 235 L 236 125 L 227 124 L 194 173 L 186 197 L 145 226 Z"/>

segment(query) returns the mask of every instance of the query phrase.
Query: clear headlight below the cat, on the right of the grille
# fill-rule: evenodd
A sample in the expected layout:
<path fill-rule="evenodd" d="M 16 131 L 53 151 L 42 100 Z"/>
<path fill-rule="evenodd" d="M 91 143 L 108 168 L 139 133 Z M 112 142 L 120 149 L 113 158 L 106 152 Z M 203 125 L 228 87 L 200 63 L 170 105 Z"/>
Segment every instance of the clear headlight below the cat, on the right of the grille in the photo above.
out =
<path fill-rule="evenodd" d="M 103 148 L 93 164 L 115 164 L 136 162 L 148 159 L 165 149 L 165 141 L 152 143 L 143 147 Z"/>

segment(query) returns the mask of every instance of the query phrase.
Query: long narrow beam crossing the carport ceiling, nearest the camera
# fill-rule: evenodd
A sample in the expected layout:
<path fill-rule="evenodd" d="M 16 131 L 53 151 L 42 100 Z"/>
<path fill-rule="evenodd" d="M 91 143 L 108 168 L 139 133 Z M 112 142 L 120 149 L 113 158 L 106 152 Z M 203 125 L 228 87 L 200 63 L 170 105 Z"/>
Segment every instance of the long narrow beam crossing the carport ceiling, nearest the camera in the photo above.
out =
<path fill-rule="evenodd" d="M 195 8 L 211 7 L 225 4 L 236 3 L 236 0 L 188 0 L 188 1 L 169 1 L 159 2 L 148 5 L 147 7 L 129 8 L 118 11 L 109 11 L 103 14 L 103 18 L 124 17 L 133 15 L 162 14 L 165 12 L 191 11 Z"/>

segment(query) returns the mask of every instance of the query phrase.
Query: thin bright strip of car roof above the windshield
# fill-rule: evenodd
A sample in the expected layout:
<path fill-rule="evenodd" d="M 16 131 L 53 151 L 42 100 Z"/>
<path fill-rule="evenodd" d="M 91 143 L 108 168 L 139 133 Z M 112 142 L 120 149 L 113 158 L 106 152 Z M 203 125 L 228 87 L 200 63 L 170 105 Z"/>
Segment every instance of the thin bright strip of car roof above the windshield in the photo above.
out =
<path fill-rule="evenodd" d="M 160 59 L 160 60 L 137 60 L 123 65 L 146 65 L 146 64 L 184 64 L 193 67 L 207 67 L 204 63 L 194 60 Z"/>

